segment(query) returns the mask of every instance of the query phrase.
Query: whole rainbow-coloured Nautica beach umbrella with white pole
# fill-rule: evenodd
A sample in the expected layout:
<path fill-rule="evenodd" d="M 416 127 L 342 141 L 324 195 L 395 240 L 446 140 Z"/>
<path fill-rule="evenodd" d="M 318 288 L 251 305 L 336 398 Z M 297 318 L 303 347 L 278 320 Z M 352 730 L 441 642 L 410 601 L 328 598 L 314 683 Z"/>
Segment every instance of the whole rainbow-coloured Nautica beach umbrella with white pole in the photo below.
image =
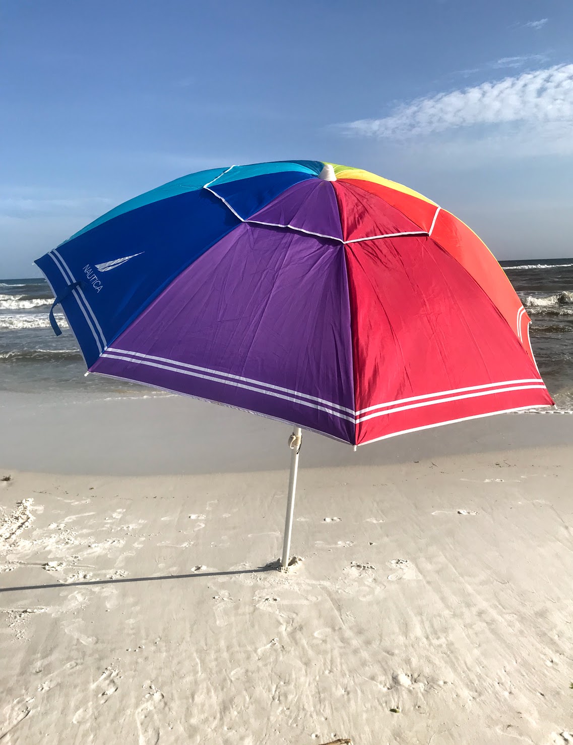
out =
<path fill-rule="evenodd" d="M 283 566 L 302 429 L 362 446 L 553 403 L 528 315 L 478 236 L 359 168 L 191 174 L 36 264 L 89 373 L 294 425 Z"/>

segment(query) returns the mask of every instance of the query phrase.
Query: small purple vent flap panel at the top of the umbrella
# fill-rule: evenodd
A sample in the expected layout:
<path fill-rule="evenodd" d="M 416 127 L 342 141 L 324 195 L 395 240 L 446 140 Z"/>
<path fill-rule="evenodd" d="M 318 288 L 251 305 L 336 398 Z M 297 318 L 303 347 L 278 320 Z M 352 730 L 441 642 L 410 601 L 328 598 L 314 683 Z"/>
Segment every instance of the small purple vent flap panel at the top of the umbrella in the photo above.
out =
<path fill-rule="evenodd" d="M 336 193 L 329 181 L 311 179 L 287 188 L 249 221 L 284 225 L 342 241 Z"/>

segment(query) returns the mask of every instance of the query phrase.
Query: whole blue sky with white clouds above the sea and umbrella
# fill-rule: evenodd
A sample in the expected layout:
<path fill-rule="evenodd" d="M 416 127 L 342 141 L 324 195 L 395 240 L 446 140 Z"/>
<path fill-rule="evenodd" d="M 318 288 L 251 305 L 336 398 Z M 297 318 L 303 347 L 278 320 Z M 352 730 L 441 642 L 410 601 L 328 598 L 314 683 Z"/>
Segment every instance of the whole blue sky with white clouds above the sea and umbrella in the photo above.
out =
<path fill-rule="evenodd" d="M 0 276 L 216 165 L 367 168 L 572 256 L 571 0 L 3 0 Z"/>

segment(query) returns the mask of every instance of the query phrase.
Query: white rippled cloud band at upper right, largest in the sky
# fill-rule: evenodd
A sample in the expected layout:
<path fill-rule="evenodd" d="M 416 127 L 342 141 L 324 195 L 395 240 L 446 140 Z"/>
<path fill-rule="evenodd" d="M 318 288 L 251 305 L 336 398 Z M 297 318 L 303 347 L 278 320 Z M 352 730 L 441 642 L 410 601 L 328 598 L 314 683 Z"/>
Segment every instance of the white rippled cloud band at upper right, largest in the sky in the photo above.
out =
<path fill-rule="evenodd" d="M 389 116 L 338 125 L 350 136 L 409 139 L 476 125 L 573 126 L 573 65 L 525 72 L 493 83 L 418 98 Z"/>

